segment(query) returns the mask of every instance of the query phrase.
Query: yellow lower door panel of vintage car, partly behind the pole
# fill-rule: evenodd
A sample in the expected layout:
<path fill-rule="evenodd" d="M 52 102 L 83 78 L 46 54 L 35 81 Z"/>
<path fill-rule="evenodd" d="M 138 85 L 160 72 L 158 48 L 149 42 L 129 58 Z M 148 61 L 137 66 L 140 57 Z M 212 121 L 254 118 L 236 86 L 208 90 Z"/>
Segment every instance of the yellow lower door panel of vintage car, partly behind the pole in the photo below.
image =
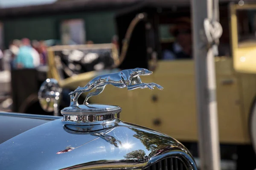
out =
<path fill-rule="evenodd" d="M 161 41 L 161 40 L 160 40 Z M 233 71 L 232 57 L 215 57 L 219 136 L 221 142 L 243 142 L 239 78 Z M 157 98 L 158 130 L 180 141 L 198 139 L 196 114 L 195 63 L 193 59 L 159 60 L 154 82 L 163 91 Z"/>

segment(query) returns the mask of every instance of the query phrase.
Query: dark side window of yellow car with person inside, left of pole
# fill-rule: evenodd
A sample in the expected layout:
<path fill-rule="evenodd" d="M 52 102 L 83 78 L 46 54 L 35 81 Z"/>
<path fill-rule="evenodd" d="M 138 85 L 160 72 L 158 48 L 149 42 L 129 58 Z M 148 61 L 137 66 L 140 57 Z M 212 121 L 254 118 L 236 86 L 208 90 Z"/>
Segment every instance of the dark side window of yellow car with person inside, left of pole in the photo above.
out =
<path fill-rule="evenodd" d="M 158 25 L 163 60 L 192 59 L 192 29 L 189 16 L 163 16 Z"/>

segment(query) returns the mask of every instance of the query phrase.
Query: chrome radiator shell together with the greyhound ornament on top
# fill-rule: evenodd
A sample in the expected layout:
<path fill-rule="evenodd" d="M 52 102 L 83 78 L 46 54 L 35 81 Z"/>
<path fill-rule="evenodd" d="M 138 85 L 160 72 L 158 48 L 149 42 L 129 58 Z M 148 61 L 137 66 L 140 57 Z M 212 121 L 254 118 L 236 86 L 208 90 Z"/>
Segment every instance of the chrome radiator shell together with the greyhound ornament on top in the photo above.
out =
<path fill-rule="evenodd" d="M 70 93 L 70 106 L 57 119 L 0 144 L 1 169 L 26 170 L 144 170 L 157 161 L 178 159 L 188 170 L 196 170 L 189 151 L 163 133 L 122 122 L 121 108 L 114 105 L 88 104 L 90 96 L 100 94 L 105 85 L 118 88 L 157 87 L 143 83 L 140 75 L 152 74 L 142 68 L 123 70 L 94 78 L 83 88 Z M 77 102 L 81 93 L 84 104 Z M 14 163 L 15 162 L 15 163 Z M 171 162 L 169 162 L 171 164 Z M 167 166 L 167 165 L 166 165 Z M 168 165 L 169 166 L 169 165 Z"/>

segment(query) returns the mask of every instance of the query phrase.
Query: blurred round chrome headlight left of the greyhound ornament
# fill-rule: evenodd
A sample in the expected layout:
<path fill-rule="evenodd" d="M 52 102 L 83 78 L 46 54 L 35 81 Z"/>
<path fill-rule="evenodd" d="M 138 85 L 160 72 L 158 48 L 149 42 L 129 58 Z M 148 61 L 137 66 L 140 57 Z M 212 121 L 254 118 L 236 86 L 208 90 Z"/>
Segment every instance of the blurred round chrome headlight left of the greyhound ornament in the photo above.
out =
<path fill-rule="evenodd" d="M 62 89 L 56 79 L 46 79 L 38 92 L 38 99 L 44 111 L 54 111 L 54 116 L 58 116 L 58 103 L 60 101 Z"/>

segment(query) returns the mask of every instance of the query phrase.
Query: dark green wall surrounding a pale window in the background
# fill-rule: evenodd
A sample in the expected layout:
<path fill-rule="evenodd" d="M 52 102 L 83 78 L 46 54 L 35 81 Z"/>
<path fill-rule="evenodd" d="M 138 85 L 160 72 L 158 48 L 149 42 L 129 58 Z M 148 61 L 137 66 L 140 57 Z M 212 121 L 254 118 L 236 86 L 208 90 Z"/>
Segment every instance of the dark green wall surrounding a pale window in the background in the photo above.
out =
<path fill-rule="evenodd" d="M 115 21 L 113 11 L 93 13 L 73 13 L 44 17 L 26 17 L 12 20 L 3 20 L 4 43 L 6 47 L 10 40 L 27 37 L 31 40 L 59 39 L 59 26 L 61 20 L 83 19 L 86 30 L 86 40 L 94 43 L 111 42 L 115 34 Z"/>

